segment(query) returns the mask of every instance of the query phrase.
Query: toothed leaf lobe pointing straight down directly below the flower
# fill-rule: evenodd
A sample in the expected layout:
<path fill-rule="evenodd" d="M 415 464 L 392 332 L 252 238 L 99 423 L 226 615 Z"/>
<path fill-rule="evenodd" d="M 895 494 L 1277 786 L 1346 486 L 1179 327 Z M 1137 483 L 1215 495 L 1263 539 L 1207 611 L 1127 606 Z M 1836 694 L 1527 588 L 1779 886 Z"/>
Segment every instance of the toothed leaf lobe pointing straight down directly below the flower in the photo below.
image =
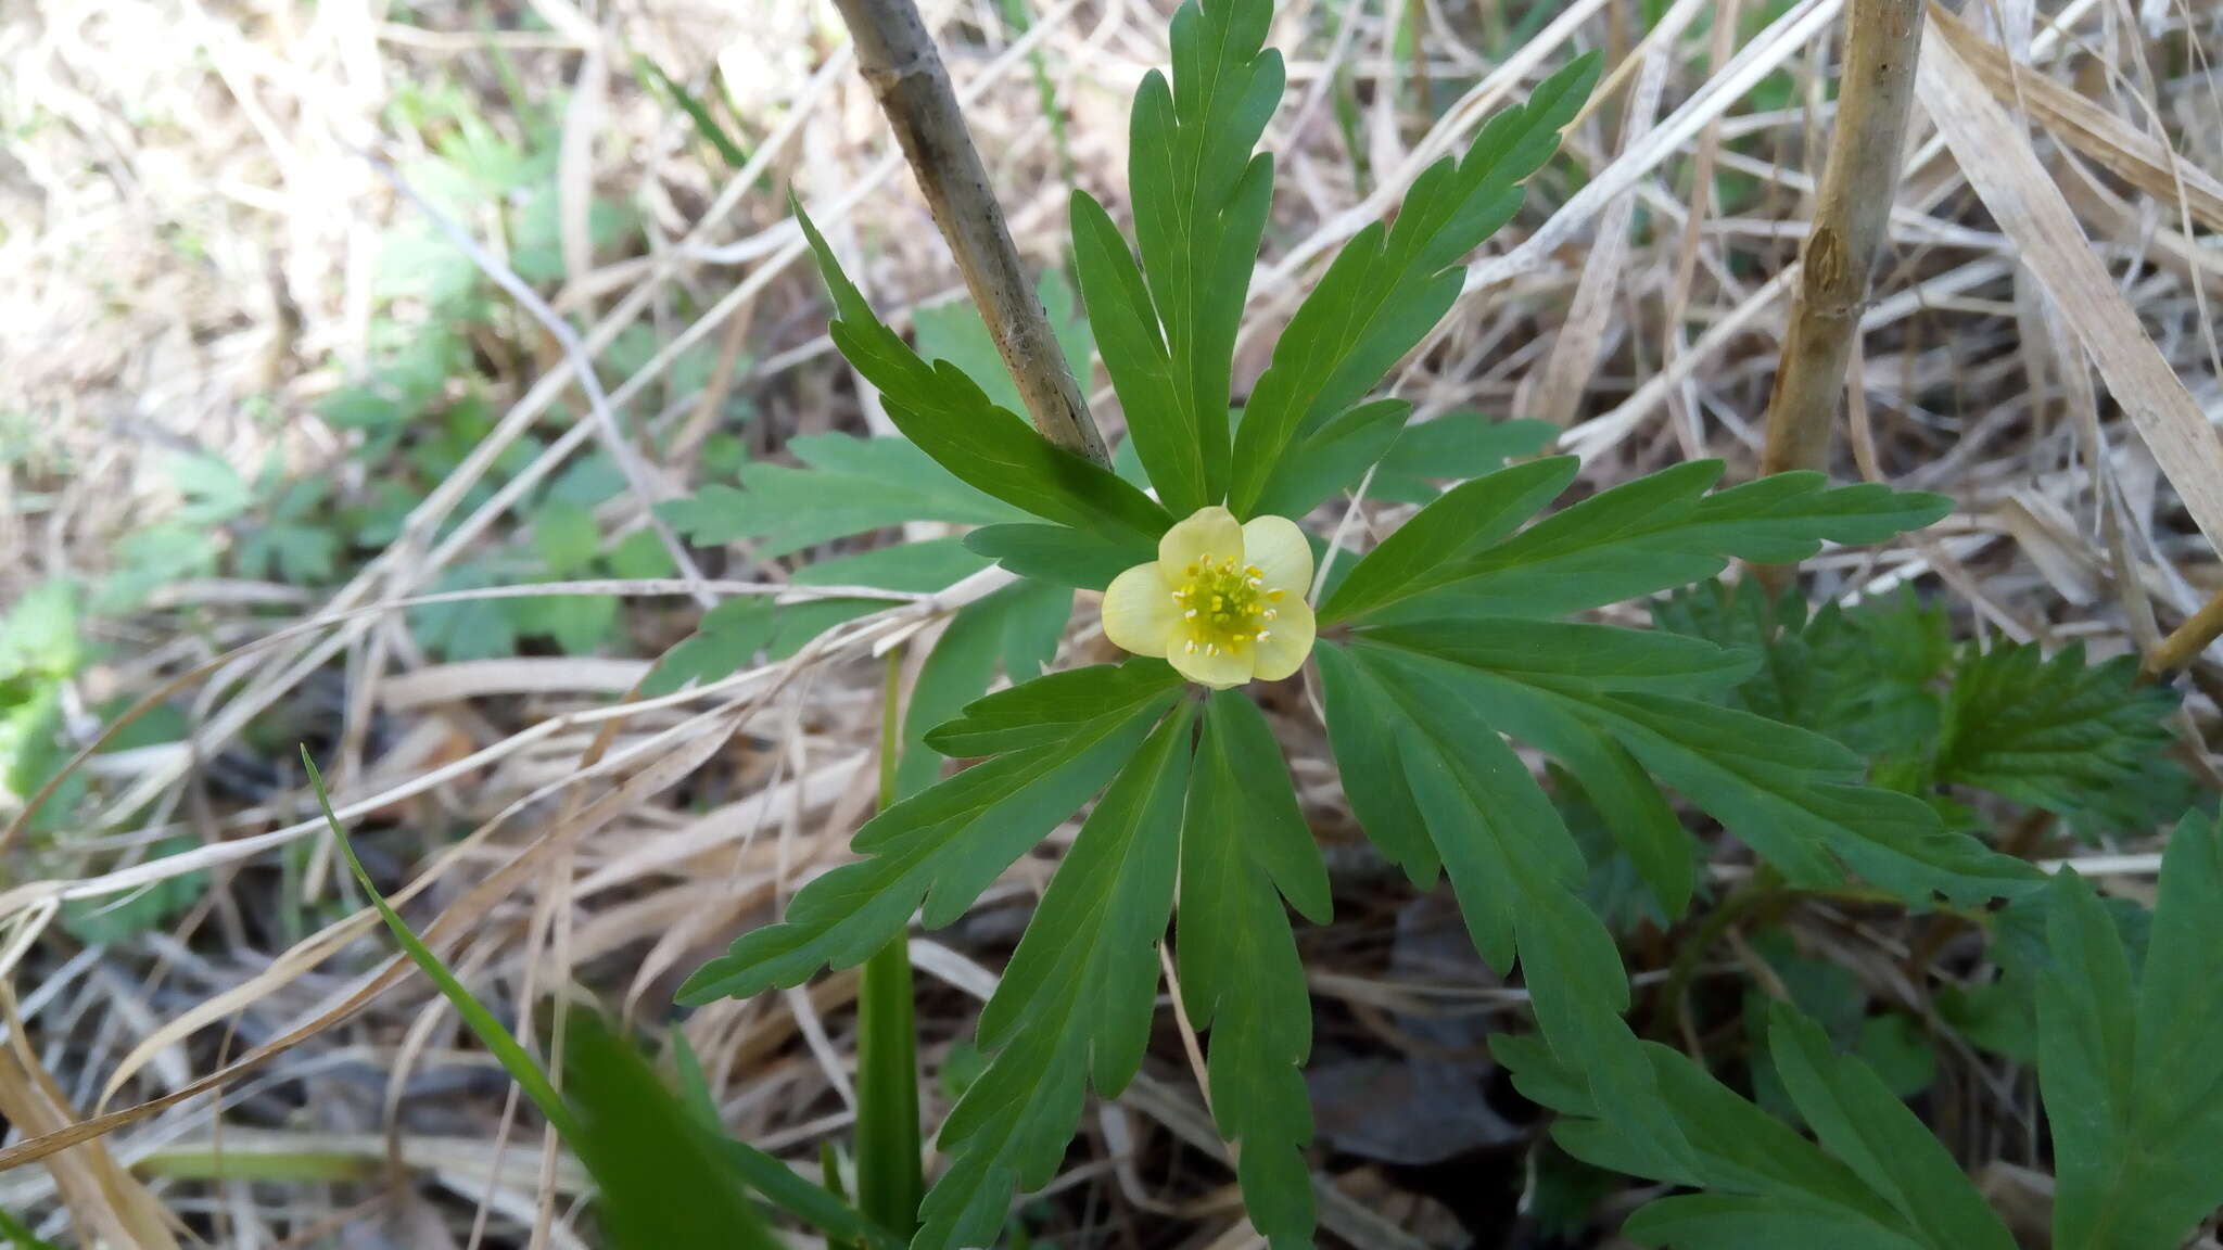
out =
<path fill-rule="evenodd" d="M 1312 1246 L 1314 1221 L 1303 1077 L 1312 996 L 1280 901 L 1303 899 L 1325 919 L 1327 881 L 1309 827 L 1300 816 L 1289 823 L 1296 796 L 1260 810 L 1265 787 L 1289 785 L 1278 761 L 1260 778 L 1260 732 L 1265 750 L 1278 754 L 1243 692 L 1220 690 L 1205 703 L 1180 823 L 1176 932 L 1183 1003 L 1196 1028 L 1212 1030 L 1212 1117 L 1238 1145 L 1243 1206 L 1276 1250 L 1292 1250 Z"/>

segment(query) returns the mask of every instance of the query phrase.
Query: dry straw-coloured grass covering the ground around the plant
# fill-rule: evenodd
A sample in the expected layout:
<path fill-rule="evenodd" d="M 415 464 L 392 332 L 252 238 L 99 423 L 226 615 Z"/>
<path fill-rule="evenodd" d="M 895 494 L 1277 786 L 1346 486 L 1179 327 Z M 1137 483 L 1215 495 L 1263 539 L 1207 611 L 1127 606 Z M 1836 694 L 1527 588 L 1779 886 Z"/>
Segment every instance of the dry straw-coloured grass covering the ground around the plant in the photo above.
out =
<path fill-rule="evenodd" d="M 1045 265 L 1060 258 L 1067 162 L 1123 211 L 1125 102 L 1165 60 L 1165 24 L 1158 0 L 1029 9 L 1018 38 L 985 0 L 927 4 L 1020 249 Z M 1614 93 L 1569 133 L 1585 176 L 1563 162 L 1541 180 L 1398 391 L 1423 416 L 1547 416 L 1592 485 L 1701 454 L 1750 474 L 1830 125 L 1818 76 L 1834 65 L 1841 4 L 1663 9 L 1669 33 L 1641 40 L 1634 2 L 1576 0 L 1514 44 L 1527 4 L 1414 4 L 1427 22 L 1414 62 L 1380 7 L 1285 2 L 1274 44 L 1289 93 L 1267 131 L 1283 180 L 1238 385 L 1343 238 L 1541 71 L 1603 47 Z M 1707 11 L 1741 11 L 1738 38 L 1674 33 Z M 2016 27 L 2001 36 L 2001 20 Z M 1816 560 L 1818 594 L 1925 581 L 1976 634 L 2150 652 L 2223 589 L 2219 51 L 2223 11 L 2205 4 L 2043 0 L 1932 18 L 1841 472 L 1943 489 L 1961 507 L 1912 545 Z M 745 169 L 707 158 L 687 118 L 634 78 L 634 53 L 696 87 L 722 69 Z M 520 311 L 507 343 L 485 345 L 500 420 L 420 500 L 405 538 L 338 589 L 305 603 L 291 587 L 196 581 L 102 625 L 107 661 L 80 678 L 78 705 L 176 698 L 193 734 L 100 756 L 91 825 L 9 847 L 0 970 L 22 1023 L 0 1052 L 0 1163 L 42 1154 L 22 1143 L 84 1117 L 107 1117 L 107 1134 L 0 1174 L 0 1206 L 87 1246 L 160 1243 L 113 1223 L 151 1210 L 185 1243 L 378 1243 L 360 1232 L 422 1248 L 576 1246 L 576 1170 L 520 1123 L 453 1014 L 400 974 L 318 843 L 300 778 L 278 772 L 240 794 L 211 770 L 267 763 L 249 732 L 309 732 L 396 901 L 527 1032 L 529 1003 L 551 994 L 660 1025 L 694 963 L 843 852 L 871 796 L 876 667 L 863 661 L 936 629 L 989 578 L 891 603 L 794 661 L 669 698 L 634 696 L 645 665 L 627 658 L 436 663 L 398 612 L 445 567 L 514 536 L 511 505 L 534 480 L 589 445 L 622 445 L 611 414 L 687 427 L 680 447 L 700 447 L 731 411 L 720 400 L 745 398 L 747 436 L 767 454 L 794 434 L 885 423 L 823 336 L 785 191 L 814 207 L 891 320 L 956 278 L 831 7 L 29 0 L 0 18 L 0 65 L 9 601 L 47 576 L 100 572 L 118 536 L 171 505 L 158 452 L 247 467 L 278 454 L 365 487 L 318 400 L 371 360 L 382 240 L 422 225 L 382 171 L 427 142 L 391 109 L 411 85 L 462 82 L 507 133 L 507 91 L 554 107 L 571 265 L 540 294 L 580 340 L 567 347 Z M 1036 65 L 1063 127 L 1043 111 Z M 1787 91 L 1756 102 L 1767 82 Z M 596 191 L 638 207 L 656 249 L 596 254 Z M 489 238 L 496 222 L 453 225 Z M 634 325 L 662 351 L 620 376 L 605 354 Z M 725 358 L 709 396 L 660 378 L 691 343 Z M 602 416 L 582 407 L 578 374 L 598 374 Z M 1107 387 L 1096 407 L 1109 411 Z M 473 492 L 527 436 L 538 452 L 522 472 Z M 702 480 L 687 458 L 631 467 L 629 492 L 600 514 L 611 534 Z M 1367 505 L 1358 520 L 1396 516 Z M 689 598 L 787 589 L 778 563 L 738 547 L 709 556 L 702 576 L 620 587 L 634 596 L 627 654 L 685 634 Z M 1103 652 L 1087 616 L 1067 638 L 1074 656 Z M 2216 705 L 2199 694 L 2207 674 L 2194 678 L 2183 734 L 2205 770 Z M 1276 714 L 1345 879 L 1343 919 L 1303 934 L 1320 1065 L 1409 1083 L 1449 1059 L 1481 1081 L 1478 1028 L 1518 1010 L 1518 992 L 1469 956 L 1429 963 L 1445 916 L 1356 845 L 1303 701 Z M 80 716 L 78 730 L 89 741 L 96 723 Z M 147 859 L 180 834 L 196 850 Z M 2152 856 L 2116 850 L 2087 867 L 2136 890 Z M 969 1036 L 1051 861 L 1023 861 L 971 919 L 916 939 L 929 1072 Z M 73 899 L 187 870 L 216 887 L 171 930 L 82 948 L 56 923 Z M 1878 994 L 1903 985 L 1910 932 L 1896 921 L 1814 907 L 1796 923 Z M 1636 963 L 1656 970 L 1656 954 Z M 685 1019 L 734 1132 L 803 1163 L 843 1139 L 854 992 L 840 974 Z M 1967 1077 L 1952 1114 L 1963 1159 L 2032 1163 L 2027 1081 L 1972 1052 L 1945 1063 Z M 1518 1125 L 1465 1125 L 1472 1172 L 1445 1181 L 1369 1154 L 1365 1099 L 1320 1099 L 1338 1150 L 1332 1234 L 1369 1248 L 1512 1237 L 1512 1194 L 1458 1212 L 1454 1194 L 1474 1174 L 1514 1183 Z M 929 1117 L 945 1110 L 931 1085 L 929 1103 Z M 1043 1228 L 1065 1246 L 1247 1243 L 1198 1117 L 1160 1014 L 1145 1079 L 1087 1119 Z"/>

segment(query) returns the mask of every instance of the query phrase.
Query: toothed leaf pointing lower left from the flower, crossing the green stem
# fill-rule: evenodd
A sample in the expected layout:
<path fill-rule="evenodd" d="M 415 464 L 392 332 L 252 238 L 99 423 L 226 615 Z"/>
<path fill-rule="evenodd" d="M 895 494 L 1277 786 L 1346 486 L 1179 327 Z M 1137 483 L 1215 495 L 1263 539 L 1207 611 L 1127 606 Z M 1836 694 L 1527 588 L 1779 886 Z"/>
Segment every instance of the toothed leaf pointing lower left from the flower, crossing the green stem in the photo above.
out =
<path fill-rule="evenodd" d="M 805 885 L 782 923 L 736 939 L 687 979 L 680 1001 L 749 996 L 800 985 L 818 968 L 851 968 L 920 905 L 927 927 L 958 919 L 1134 756 L 1178 690 L 1163 661 L 1132 661 L 1049 674 L 974 703 L 927 743 L 1003 754 L 867 821 L 849 843 L 865 859 Z"/>

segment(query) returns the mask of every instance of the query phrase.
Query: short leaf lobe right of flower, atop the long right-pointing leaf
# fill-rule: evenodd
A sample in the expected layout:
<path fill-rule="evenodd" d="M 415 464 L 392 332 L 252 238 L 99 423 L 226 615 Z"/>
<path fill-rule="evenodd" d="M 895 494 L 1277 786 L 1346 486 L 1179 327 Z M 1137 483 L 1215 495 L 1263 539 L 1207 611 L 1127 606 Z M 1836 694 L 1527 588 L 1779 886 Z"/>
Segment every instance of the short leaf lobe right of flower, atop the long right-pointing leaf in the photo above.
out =
<path fill-rule="evenodd" d="M 1465 556 L 1536 516 L 1543 505 L 1567 489 L 1576 469 L 1581 469 L 1581 460 L 1574 456 L 1554 456 L 1498 469 L 1443 492 L 1443 498 L 1423 507 L 1396 534 L 1383 538 L 1352 565 L 1343 585 L 1320 605 L 1320 623 L 1363 616 L 1467 576 Z"/>

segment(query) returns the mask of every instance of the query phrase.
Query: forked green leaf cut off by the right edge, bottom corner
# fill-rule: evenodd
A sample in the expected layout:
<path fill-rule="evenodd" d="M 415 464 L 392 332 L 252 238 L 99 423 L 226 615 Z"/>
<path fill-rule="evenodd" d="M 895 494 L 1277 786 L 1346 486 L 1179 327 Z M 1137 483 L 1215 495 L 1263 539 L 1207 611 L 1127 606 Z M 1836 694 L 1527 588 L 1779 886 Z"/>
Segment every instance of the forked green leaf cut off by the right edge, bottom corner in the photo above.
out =
<path fill-rule="evenodd" d="M 2223 1206 L 2223 836 L 2205 816 L 2170 834 L 2143 974 L 2081 876 L 2054 879 L 2047 903 L 2038 1088 L 2054 1246 L 2181 1246 Z"/>

